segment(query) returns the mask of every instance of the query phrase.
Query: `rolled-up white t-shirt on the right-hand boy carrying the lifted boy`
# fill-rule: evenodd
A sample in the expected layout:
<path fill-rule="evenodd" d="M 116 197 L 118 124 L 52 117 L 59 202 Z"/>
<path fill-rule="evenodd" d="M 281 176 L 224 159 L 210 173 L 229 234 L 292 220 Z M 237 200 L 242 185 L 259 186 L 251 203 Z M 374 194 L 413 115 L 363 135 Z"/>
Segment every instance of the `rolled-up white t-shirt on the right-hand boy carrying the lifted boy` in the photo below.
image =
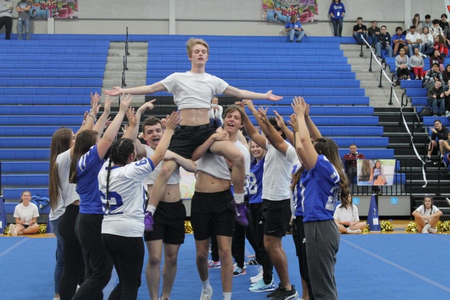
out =
<path fill-rule="evenodd" d="M 250 152 L 248 151 L 248 148 L 239 140 L 236 140 L 234 144 L 244 156 L 245 175 L 248 175 L 250 173 Z M 228 168 L 228 164 L 226 163 L 225 158 L 221 155 L 206 152 L 200 159 L 198 159 L 197 170 L 203 171 L 222 180 L 231 180 L 231 172 Z"/>

